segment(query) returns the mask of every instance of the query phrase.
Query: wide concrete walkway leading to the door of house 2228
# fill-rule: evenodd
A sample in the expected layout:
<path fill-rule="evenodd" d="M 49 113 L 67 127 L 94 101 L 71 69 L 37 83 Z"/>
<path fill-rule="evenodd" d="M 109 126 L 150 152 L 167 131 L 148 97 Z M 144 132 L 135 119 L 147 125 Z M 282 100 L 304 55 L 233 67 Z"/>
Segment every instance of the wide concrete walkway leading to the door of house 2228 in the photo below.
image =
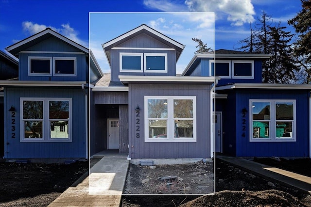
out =
<path fill-rule="evenodd" d="M 103 155 L 49 207 L 119 207 L 129 166 L 127 155 Z"/>

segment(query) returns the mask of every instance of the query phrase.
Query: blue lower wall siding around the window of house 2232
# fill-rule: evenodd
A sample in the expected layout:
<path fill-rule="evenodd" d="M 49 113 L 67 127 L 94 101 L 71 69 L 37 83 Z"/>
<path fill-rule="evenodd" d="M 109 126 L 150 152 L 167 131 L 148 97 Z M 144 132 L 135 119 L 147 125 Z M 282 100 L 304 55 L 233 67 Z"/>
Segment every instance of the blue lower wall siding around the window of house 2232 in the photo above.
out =
<path fill-rule="evenodd" d="M 5 105 L 16 109 L 16 138 L 11 137 L 11 113 L 6 111 L 5 158 L 85 158 L 86 157 L 86 99 L 85 91 L 67 88 L 5 88 Z M 10 94 L 10 96 L 7 96 Z M 20 97 L 72 98 L 72 142 L 20 142 Z M 46 129 L 45 129 L 46 130 Z"/>

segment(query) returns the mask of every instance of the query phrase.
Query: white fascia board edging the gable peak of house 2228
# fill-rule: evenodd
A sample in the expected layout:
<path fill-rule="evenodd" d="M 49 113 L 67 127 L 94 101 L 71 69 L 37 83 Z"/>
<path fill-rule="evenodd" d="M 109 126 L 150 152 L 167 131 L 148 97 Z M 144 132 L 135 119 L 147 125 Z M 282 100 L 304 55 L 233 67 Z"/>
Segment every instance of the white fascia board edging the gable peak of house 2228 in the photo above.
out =
<path fill-rule="evenodd" d="M 157 32 L 157 31 L 151 29 L 150 27 L 148 27 L 146 25 L 141 25 L 140 27 L 138 27 L 138 28 L 136 28 L 136 29 L 134 29 L 134 30 L 132 30 L 130 32 L 126 32 L 125 34 L 122 34 L 121 36 L 119 36 L 119 37 L 117 37 L 117 38 L 115 38 L 115 39 L 113 39 L 113 40 L 111 40 L 109 42 L 106 42 L 106 43 L 102 44 L 102 46 L 103 46 L 103 48 L 106 48 L 106 47 L 108 47 L 108 46 L 110 46 L 110 45 L 112 45 L 112 44 L 114 44 L 116 42 L 119 42 L 120 40 L 122 40 L 122 39 L 124 39 L 124 38 L 126 38 L 126 37 L 128 37 L 128 36 L 130 36 L 130 35 L 132 35 L 134 33 L 136 33 L 136 32 L 139 32 L 139 31 L 143 30 L 143 29 L 145 29 L 148 32 L 151 32 L 151 33 L 159 36 L 160 38 L 162 38 L 162 39 L 172 43 L 173 45 L 177 46 L 178 48 L 181 48 L 181 49 L 185 48 L 184 45 L 174 41 L 173 39 L 171 39 L 171 38 L 169 38 L 169 37 L 167 37 L 167 36 L 165 36 L 163 34 L 161 34 L 160 32 Z"/>

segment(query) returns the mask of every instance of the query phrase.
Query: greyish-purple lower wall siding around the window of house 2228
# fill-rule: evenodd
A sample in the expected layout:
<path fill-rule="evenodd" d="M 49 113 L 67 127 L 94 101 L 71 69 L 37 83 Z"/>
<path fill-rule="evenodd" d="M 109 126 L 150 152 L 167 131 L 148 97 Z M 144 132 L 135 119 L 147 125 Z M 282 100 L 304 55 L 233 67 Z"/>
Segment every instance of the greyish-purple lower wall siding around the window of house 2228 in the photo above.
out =
<path fill-rule="evenodd" d="M 210 85 L 129 84 L 129 157 L 132 159 L 210 158 Z M 144 96 L 196 96 L 196 142 L 144 142 Z M 136 107 L 140 138 L 136 138 Z"/>

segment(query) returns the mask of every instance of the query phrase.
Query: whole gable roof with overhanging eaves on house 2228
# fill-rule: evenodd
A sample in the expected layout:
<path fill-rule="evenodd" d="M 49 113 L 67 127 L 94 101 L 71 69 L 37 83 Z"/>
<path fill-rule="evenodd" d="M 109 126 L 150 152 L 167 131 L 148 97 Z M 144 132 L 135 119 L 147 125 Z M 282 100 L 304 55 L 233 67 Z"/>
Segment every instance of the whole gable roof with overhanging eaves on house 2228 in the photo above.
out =
<path fill-rule="evenodd" d="M 139 27 L 126 32 L 124 34 L 121 34 L 120 36 L 102 44 L 102 47 L 104 49 L 105 55 L 108 59 L 108 62 L 110 64 L 110 49 L 116 47 L 117 45 L 120 45 L 121 43 L 124 43 L 126 41 L 128 41 L 129 39 L 132 39 L 133 37 L 141 34 L 141 33 L 145 33 L 153 38 L 155 38 L 156 40 L 168 45 L 169 47 L 173 48 L 176 50 L 176 61 L 178 60 L 181 52 L 183 51 L 183 49 L 185 48 L 184 45 L 182 45 L 181 43 L 173 40 L 172 38 L 157 32 L 156 30 L 152 29 L 151 27 L 148 27 L 146 24 L 142 24 Z M 143 48 L 142 48 L 143 49 Z"/>

